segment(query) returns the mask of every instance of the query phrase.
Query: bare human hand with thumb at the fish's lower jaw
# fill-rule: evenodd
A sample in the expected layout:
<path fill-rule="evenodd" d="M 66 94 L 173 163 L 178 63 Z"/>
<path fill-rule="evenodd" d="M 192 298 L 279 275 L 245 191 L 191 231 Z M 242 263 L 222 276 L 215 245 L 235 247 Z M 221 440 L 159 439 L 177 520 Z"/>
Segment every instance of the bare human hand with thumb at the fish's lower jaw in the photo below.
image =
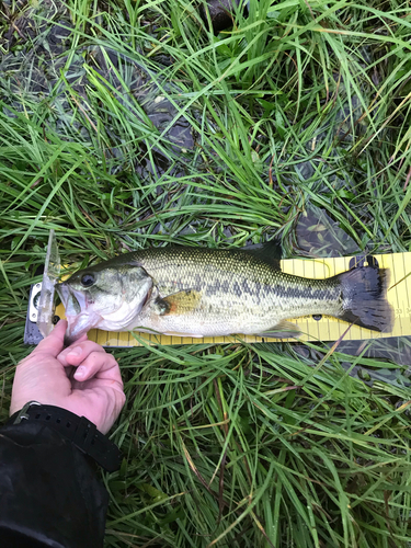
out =
<path fill-rule="evenodd" d="M 35 400 L 83 415 L 106 434 L 126 400 L 118 364 L 87 335 L 62 350 L 66 328 L 60 320 L 18 365 L 10 414 Z M 73 378 L 67 375 L 68 366 L 77 367 Z"/>

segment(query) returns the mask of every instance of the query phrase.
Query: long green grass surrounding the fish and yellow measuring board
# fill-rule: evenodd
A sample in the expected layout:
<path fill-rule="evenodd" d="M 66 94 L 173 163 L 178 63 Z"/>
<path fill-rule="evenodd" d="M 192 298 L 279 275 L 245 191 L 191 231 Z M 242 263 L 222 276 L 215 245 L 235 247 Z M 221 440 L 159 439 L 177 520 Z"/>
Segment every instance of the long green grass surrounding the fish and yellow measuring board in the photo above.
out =
<path fill-rule="evenodd" d="M 250 0 L 217 36 L 179 0 L 1 10 L 1 419 L 52 228 L 77 265 L 275 235 L 410 250 L 406 2 Z M 409 347 L 115 351 L 106 546 L 409 546 Z"/>

